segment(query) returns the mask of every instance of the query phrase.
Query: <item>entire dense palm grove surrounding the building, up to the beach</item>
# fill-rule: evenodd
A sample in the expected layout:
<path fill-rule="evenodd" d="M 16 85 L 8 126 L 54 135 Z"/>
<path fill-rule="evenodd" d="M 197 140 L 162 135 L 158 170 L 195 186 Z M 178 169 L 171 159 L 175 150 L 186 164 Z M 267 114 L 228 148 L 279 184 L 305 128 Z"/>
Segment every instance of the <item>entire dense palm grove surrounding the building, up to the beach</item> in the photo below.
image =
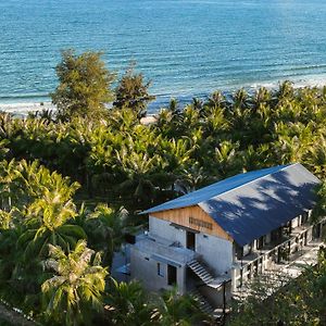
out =
<path fill-rule="evenodd" d="M 143 225 L 140 210 L 237 173 L 300 162 L 325 179 L 326 88 L 294 89 L 285 82 L 250 95 L 215 91 L 183 108 L 171 100 L 145 124 L 153 97 L 142 75 L 127 71 L 114 93 L 113 75 L 92 65 L 110 90 L 103 99 L 115 98 L 106 109 L 98 93 L 91 100 L 82 83 L 87 76 L 78 75 L 77 87 L 66 91 L 76 74 L 65 75 L 64 67 L 78 62 L 70 61 L 73 52 L 64 55 L 52 97 L 59 114 L 0 114 L 1 298 L 50 325 L 206 319 L 192 298 L 116 283 L 110 277 L 113 251 L 124 234 Z M 321 285 L 315 298 L 325 300 L 325 256 L 314 273 Z M 322 325 L 323 313 L 316 309 L 312 325 Z"/>

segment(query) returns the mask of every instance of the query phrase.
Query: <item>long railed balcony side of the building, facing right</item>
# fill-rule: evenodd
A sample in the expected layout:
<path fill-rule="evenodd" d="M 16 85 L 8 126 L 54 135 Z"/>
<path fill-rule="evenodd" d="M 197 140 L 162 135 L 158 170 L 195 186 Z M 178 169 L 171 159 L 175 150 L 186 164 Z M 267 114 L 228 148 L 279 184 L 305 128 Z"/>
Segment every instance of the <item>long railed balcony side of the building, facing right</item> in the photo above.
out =
<path fill-rule="evenodd" d="M 289 235 L 279 239 L 278 243 L 269 243 L 241 260 L 236 260 L 231 271 L 234 296 L 246 297 L 248 294 L 246 292 L 250 288 L 250 280 L 259 274 L 267 276 L 269 280 L 273 275 L 296 278 L 302 273 L 304 266 L 316 264 L 318 249 L 324 242 L 314 237 L 314 233 L 325 223 L 326 218 L 314 226 L 298 226 L 291 229 Z M 278 281 L 280 279 L 281 277 Z M 284 280 L 280 283 L 279 286 Z"/>

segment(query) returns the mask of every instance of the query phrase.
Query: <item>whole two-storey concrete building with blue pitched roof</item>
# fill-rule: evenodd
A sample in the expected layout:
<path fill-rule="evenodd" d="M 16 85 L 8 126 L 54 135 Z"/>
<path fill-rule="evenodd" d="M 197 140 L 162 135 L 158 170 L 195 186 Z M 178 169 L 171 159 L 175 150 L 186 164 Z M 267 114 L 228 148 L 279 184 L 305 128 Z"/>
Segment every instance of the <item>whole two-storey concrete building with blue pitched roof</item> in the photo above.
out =
<path fill-rule="evenodd" d="M 251 277 L 315 248 L 325 222 L 309 223 L 319 180 L 301 164 L 239 174 L 143 212 L 130 276 L 152 291 L 177 286 L 211 306 Z M 325 227 L 324 227 L 325 228 Z"/>

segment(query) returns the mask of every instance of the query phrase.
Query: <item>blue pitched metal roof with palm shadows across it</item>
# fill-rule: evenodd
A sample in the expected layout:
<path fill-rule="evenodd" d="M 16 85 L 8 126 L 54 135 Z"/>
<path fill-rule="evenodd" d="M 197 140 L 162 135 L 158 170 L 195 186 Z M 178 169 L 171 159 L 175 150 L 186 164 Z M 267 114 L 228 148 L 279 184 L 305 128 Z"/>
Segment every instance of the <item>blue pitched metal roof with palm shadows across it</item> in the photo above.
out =
<path fill-rule="evenodd" d="M 143 213 L 198 204 L 244 246 L 312 209 L 318 183 L 301 164 L 279 165 L 236 175 Z"/>

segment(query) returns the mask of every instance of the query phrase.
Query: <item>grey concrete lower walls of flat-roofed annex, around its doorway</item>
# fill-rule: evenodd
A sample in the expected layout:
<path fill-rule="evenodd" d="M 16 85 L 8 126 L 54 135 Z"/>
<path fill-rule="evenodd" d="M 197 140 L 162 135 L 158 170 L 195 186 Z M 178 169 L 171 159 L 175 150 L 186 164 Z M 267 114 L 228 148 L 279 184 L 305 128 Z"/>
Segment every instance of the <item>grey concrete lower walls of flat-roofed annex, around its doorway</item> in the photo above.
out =
<path fill-rule="evenodd" d="M 161 264 L 163 275 L 158 275 L 158 263 Z M 135 246 L 130 249 L 130 278 L 142 283 L 149 291 L 159 291 L 162 289 L 172 289 L 167 285 L 167 264 L 158 262 L 150 254 L 140 252 Z M 180 294 L 186 292 L 186 267 L 177 267 L 177 288 Z"/>

